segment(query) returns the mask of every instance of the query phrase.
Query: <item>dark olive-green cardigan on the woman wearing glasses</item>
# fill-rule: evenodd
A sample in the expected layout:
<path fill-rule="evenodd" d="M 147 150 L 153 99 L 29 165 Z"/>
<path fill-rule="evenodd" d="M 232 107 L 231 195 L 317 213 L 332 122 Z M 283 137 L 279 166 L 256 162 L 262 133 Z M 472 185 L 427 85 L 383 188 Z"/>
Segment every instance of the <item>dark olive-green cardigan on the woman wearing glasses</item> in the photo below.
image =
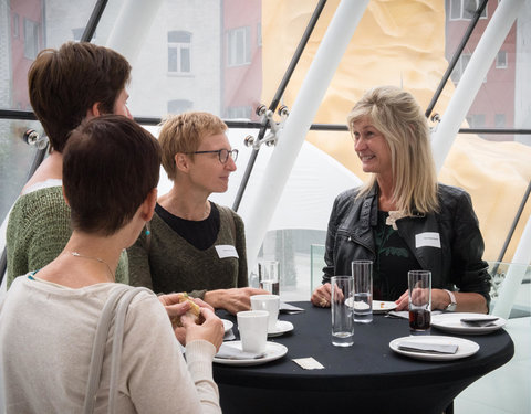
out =
<path fill-rule="evenodd" d="M 127 250 L 129 283 L 153 291 L 186 291 L 202 298 L 207 290 L 248 286 L 243 221 L 229 208 L 217 205 L 220 229 L 214 245 L 198 250 L 155 212 L 149 236 L 145 230 Z M 220 258 L 216 246 L 232 245 L 239 257 Z"/>

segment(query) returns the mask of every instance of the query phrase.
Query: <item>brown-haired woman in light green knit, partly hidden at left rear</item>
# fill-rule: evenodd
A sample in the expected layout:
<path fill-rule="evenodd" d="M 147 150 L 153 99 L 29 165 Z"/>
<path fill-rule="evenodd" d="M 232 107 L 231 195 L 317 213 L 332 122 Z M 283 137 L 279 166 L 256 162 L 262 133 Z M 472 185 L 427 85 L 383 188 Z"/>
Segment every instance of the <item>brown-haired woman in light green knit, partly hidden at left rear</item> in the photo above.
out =
<path fill-rule="evenodd" d="M 131 117 L 126 85 L 131 65 L 115 51 L 92 43 L 63 44 L 39 53 L 28 73 L 31 106 L 50 141 L 41 163 L 9 215 L 6 234 L 8 287 L 17 276 L 53 261 L 70 238 L 70 208 L 61 190 L 69 132 L 102 114 Z M 127 283 L 127 255 L 116 280 Z"/>

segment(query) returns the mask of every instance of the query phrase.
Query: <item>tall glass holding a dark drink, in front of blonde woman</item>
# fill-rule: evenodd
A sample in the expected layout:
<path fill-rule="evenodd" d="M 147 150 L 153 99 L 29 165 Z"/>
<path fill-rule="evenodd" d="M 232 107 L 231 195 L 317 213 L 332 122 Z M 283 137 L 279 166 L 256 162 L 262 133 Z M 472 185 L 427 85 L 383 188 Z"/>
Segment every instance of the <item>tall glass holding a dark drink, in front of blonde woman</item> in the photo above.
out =
<path fill-rule="evenodd" d="M 429 335 L 431 326 L 431 272 L 409 270 L 409 329 L 412 335 Z"/>

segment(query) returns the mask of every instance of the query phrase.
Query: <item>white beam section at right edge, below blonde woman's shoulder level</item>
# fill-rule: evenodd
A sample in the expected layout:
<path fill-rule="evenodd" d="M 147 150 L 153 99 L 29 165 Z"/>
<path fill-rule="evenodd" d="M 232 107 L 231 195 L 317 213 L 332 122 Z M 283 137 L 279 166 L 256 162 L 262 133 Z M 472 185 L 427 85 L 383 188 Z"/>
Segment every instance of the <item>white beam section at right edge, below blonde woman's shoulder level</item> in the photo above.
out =
<path fill-rule="evenodd" d="M 512 304 L 517 297 L 518 290 L 522 285 L 523 276 L 525 276 L 527 268 L 531 263 L 531 216 L 528 219 L 522 237 L 518 244 L 512 263 L 507 270 L 506 279 L 500 289 L 500 295 L 496 300 L 492 315 L 500 318 L 509 318 L 511 314 Z"/>

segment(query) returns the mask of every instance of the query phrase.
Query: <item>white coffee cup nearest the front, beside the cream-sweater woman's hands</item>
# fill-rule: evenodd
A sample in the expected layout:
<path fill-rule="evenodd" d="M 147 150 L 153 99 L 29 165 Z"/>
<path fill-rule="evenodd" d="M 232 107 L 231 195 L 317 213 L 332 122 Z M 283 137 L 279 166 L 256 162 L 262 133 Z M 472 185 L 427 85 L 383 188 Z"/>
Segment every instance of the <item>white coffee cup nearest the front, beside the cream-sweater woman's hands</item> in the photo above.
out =
<path fill-rule="evenodd" d="M 268 342 L 267 310 L 244 310 L 236 314 L 240 331 L 241 349 L 244 352 L 263 352 Z"/>

